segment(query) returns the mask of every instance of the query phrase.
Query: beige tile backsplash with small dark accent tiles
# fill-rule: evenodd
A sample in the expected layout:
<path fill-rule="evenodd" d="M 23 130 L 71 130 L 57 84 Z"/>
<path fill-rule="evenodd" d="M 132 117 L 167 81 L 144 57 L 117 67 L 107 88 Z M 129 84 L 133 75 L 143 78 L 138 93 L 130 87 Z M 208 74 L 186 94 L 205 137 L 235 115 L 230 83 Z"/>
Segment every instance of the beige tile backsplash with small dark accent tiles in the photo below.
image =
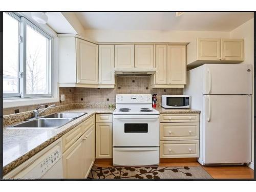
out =
<path fill-rule="evenodd" d="M 162 95 L 182 95 L 183 89 L 179 88 L 155 88 L 150 89 L 150 77 L 148 76 L 119 76 L 116 87 L 111 88 L 59 88 L 59 97 L 65 94 L 65 101 L 42 103 L 44 105 L 55 104 L 56 106 L 70 103 L 115 103 L 116 94 L 157 94 L 157 104 L 161 105 Z M 4 109 L 4 115 L 36 109 L 37 105 L 19 106 Z"/>

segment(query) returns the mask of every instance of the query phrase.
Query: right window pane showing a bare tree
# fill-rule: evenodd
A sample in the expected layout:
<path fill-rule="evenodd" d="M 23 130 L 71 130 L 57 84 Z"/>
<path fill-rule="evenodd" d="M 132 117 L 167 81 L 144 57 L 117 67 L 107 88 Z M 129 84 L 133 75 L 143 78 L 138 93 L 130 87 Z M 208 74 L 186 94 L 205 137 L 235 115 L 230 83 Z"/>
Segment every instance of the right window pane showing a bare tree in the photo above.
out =
<path fill-rule="evenodd" d="M 50 39 L 27 25 L 27 94 L 50 94 Z"/>

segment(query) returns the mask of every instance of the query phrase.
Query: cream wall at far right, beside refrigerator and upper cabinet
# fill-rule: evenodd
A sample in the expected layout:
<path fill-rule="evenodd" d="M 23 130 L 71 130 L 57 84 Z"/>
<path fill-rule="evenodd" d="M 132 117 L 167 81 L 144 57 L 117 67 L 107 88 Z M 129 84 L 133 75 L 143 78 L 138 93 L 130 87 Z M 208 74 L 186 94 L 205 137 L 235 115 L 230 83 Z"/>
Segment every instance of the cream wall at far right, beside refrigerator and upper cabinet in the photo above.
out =
<path fill-rule="evenodd" d="M 243 25 L 230 32 L 230 38 L 244 39 L 244 61 L 243 64 L 252 65 L 252 74 L 254 76 L 254 19 L 248 20 Z M 254 127 L 254 81 L 252 81 L 252 127 Z M 254 164 L 254 130 L 252 129 L 252 166 Z"/>

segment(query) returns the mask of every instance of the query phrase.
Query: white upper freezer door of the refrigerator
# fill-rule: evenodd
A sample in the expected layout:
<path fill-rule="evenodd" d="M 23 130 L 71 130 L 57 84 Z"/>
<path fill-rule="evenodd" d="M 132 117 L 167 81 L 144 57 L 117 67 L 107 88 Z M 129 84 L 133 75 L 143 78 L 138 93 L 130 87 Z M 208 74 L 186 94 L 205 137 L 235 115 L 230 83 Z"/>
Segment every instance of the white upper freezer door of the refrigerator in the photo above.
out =
<path fill-rule="evenodd" d="M 252 94 L 252 66 L 234 64 L 205 64 L 203 94 Z"/>

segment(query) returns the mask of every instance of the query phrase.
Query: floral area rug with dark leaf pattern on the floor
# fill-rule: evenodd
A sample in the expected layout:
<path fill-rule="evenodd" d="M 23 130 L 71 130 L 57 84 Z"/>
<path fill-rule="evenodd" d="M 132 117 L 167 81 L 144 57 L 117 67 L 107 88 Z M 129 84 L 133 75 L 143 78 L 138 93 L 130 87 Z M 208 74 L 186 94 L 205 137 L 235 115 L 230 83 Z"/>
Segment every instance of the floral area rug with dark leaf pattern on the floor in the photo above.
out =
<path fill-rule="evenodd" d="M 212 177 L 201 166 L 97 167 L 94 165 L 88 179 L 212 179 Z"/>

